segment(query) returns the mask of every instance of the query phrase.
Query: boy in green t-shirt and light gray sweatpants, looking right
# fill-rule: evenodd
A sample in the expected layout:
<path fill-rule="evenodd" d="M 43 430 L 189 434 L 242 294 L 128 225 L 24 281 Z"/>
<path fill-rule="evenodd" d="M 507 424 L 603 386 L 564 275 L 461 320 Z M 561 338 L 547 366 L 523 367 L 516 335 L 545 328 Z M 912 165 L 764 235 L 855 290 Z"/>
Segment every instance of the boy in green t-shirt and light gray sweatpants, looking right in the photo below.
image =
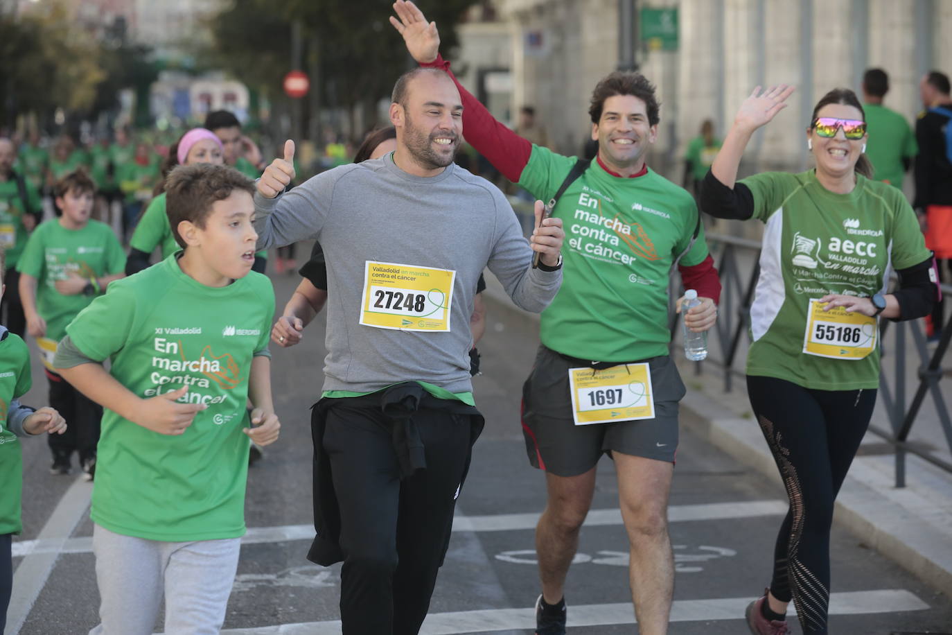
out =
<path fill-rule="evenodd" d="M 113 283 L 54 360 L 106 407 L 90 512 L 94 633 L 149 635 L 163 589 L 165 632 L 219 631 L 246 530 L 248 439 L 267 446 L 280 428 L 274 291 L 251 271 L 253 185 L 225 166 L 179 166 L 166 191 L 184 251 Z"/>

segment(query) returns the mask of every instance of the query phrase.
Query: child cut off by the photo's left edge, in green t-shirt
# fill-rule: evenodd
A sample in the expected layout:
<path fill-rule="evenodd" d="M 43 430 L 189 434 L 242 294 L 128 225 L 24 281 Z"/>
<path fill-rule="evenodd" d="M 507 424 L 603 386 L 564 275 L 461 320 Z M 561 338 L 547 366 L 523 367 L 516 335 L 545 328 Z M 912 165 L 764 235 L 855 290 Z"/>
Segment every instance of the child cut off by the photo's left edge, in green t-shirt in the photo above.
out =
<path fill-rule="evenodd" d="M 6 285 L 4 250 L 0 247 L 0 297 Z M 0 633 L 7 625 L 12 578 L 11 544 L 20 533 L 20 495 L 23 489 L 23 459 L 17 437 L 42 432 L 63 434 L 66 422 L 51 407 L 21 406 L 18 401 L 30 389 L 30 349 L 7 327 L 0 325 Z"/>

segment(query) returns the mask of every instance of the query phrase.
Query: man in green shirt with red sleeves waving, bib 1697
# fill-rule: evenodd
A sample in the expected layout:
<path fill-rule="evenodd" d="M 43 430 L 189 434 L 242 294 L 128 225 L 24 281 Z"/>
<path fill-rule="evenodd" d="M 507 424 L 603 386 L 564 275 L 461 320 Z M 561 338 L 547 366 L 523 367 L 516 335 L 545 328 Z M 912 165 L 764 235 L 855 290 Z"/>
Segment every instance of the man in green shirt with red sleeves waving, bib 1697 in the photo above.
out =
<path fill-rule="evenodd" d="M 390 23 L 412 57 L 448 73 L 435 23 L 411 2 L 394 8 L 399 19 Z M 535 198 L 558 196 L 573 168 L 584 167 L 552 210 L 565 223 L 565 277 L 542 313 L 542 346 L 523 389 L 527 454 L 545 470 L 548 489 L 536 527 L 536 633 L 565 634 L 565 578 L 597 464 L 608 453 L 618 471 L 640 632 L 663 635 L 674 587 L 667 498 L 684 396 L 668 356 L 668 277 L 680 260 L 685 288 L 704 297 L 684 318 L 695 331 L 714 326 L 721 287 L 694 199 L 645 163 L 660 121 L 654 87 L 625 72 L 598 83 L 588 110 L 598 156 L 588 164 L 531 144 L 458 82 L 457 89 L 466 141 Z"/>

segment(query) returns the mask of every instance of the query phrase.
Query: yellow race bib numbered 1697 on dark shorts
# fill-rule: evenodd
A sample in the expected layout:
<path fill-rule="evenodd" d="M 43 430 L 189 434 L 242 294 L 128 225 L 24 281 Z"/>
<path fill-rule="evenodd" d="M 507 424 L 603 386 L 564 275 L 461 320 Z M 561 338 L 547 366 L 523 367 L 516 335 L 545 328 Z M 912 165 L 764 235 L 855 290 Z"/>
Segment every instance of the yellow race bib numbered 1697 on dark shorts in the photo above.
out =
<path fill-rule="evenodd" d="M 622 364 L 605 370 L 569 368 L 568 385 L 576 426 L 654 419 L 647 364 Z"/>

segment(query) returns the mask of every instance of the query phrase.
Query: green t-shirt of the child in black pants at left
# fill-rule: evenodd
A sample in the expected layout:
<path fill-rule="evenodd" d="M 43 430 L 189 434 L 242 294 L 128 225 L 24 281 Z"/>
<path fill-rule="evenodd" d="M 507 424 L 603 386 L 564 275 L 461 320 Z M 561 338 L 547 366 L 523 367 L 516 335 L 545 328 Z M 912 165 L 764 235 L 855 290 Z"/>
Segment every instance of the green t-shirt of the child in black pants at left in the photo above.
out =
<path fill-rule="evenodd" d="M 63 295 L 56 290 L 56 281 L 67 279 L 69 271 L 84 278 L 122 273 L 126 253 L 105 223 L 90 220 L 84 228 L 67 229 L 59 219 L 52 219 L 30 235 L 16 268 L 36 278 L 36 310 L 47 322 L 47 337 L 59 342 L 69 321 L 92 298 L 82 293 Z"/>

